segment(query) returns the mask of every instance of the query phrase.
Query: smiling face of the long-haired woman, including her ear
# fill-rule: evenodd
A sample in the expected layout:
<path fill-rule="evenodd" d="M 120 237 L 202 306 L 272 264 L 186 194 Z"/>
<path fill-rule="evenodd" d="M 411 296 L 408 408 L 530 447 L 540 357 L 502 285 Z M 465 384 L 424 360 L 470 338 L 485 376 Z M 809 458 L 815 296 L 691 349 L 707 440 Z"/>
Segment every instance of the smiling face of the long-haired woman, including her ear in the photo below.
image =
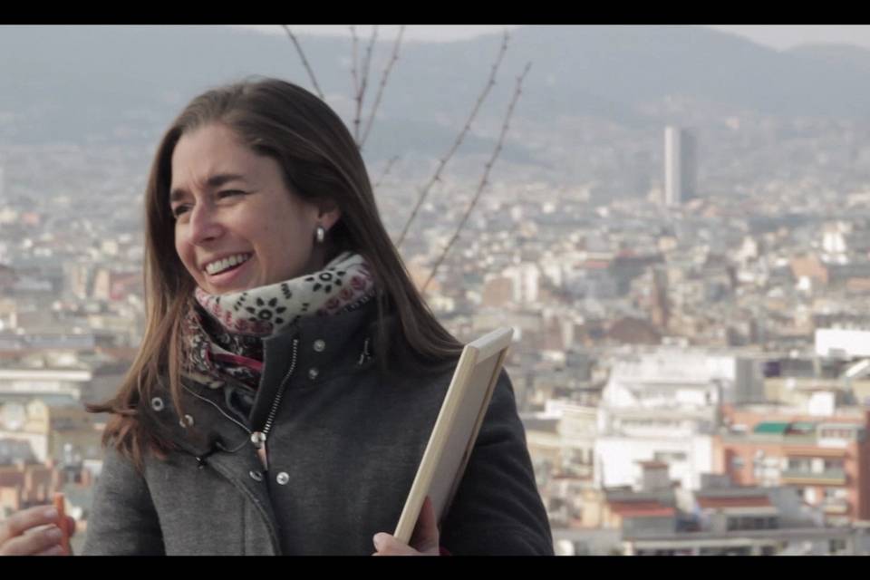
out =
<path fill-rule="evenodd" d="M 179 258 L 214 295 L 319 269 L 324 256 L 314 246 L 314 230 L 329 230 L 339 218 L 337 209 L 321 211 L 287 189 L 275 160 L 217 123 L 176 144 L 169 204 Z"/>

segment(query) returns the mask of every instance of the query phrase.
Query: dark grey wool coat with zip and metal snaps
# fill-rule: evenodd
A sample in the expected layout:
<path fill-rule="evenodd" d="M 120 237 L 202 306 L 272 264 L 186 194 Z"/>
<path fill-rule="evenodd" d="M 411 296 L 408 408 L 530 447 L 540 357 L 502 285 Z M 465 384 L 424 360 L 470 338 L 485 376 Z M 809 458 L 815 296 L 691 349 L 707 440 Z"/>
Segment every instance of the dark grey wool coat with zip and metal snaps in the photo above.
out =
<path fill-rule="evenodd" d="M 372 536 L 395 529 L 452 376 L 379 372 L 375 310 L 303 319 L 267 339 L 256 392 L 186 382 L 180 414 L 168 392 L 142 401 L 142 420 L 179 449 L 146 459 L 144 474 L 107 449 L 83 553 L 372 554 Z M 264 470 L 250 434 L 267 422 Z M 504 372 L 440 544 L 454 555 L 553 553 Z"/>

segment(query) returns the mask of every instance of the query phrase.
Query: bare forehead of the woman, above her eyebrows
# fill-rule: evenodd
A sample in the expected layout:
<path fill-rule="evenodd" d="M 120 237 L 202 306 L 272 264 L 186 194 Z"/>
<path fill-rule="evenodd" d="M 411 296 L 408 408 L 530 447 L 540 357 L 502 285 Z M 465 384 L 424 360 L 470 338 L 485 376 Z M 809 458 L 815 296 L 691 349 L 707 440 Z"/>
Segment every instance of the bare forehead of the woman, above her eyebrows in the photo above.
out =
<path fill-rule="evenodd" d="M 215 175 L 255 178 L 270 169 L 267 158 L 256 155 L 234 131 L 218 124 L 183 134 L 171 161 L 170 189 L 204 188 Z"/>

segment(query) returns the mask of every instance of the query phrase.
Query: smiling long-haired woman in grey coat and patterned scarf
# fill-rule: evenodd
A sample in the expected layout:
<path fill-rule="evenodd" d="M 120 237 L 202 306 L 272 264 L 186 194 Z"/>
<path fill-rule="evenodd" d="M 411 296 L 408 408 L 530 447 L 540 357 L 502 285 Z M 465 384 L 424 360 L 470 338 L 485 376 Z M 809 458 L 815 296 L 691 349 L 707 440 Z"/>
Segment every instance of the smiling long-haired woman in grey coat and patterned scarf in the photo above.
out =
<path fill-rule="evenodd" d="M 148 324 L 91 408 L 111 420 L 85 554 L 552 554 L 504 372 L 440 529 L 427 502 L 411 546 L 389 534 L 461 345 L 324 102 L 276 80 L 200 95 L 146 212 Z"/>

